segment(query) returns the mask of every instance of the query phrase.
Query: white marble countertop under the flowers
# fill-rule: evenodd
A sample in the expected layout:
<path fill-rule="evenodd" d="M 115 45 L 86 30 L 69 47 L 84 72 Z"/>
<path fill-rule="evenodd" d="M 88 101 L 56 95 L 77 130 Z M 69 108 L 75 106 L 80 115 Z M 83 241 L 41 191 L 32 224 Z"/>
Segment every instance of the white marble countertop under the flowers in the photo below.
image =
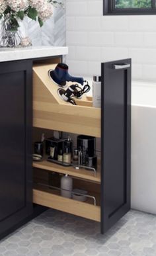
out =
<path fill-rule="evenodd" d="M 67 47 L 31 46 L 27 48 L 0 48 L 0 62 L 28 60 L 50 56 L 66 55 Z"/>

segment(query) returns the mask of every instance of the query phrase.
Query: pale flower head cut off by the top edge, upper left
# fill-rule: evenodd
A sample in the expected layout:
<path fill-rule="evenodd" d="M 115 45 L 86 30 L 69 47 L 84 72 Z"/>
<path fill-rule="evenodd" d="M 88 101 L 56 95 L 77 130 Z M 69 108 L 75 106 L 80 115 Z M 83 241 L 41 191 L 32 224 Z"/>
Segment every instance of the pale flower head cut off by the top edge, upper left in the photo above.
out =
<path fill-rule="evenodd" d="M 28 0 L 5 0 L 13 11 L 24 11 L 28 8 Z"/>

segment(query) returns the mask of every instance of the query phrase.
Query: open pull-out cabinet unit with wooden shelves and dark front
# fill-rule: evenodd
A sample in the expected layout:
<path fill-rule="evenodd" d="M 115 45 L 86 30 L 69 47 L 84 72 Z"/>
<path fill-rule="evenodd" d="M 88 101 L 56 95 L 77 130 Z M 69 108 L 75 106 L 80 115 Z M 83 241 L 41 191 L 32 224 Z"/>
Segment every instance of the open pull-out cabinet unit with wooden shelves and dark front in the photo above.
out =
<path fill-rule="evenodd" d="M 41 131 L 58 130 L 100 138 L 100 163 L 95 174 L 46 160 L 34 162 L 33 200 L 42 206 L 98 221 L 103 234 L 130 210 L 131 60 L 102 64 L 101 108 L 92 107 L 91 97 L 77 101 L 77 106 L 62 101 L 58 85 L 48 77 L 48 70 L 56 65 L 42 63 L 33 67 L 33 126 Z M 71 175 L 75 184 L 95 196 L 96 204 L 62 197 L 60 191 L 48 187 L 50 172 Z"/>

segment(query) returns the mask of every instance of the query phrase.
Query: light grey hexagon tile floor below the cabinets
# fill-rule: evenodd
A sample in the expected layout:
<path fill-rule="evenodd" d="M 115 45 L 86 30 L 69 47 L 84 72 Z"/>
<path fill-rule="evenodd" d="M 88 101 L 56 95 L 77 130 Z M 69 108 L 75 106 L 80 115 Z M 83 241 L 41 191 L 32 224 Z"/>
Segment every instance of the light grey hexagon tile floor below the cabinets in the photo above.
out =
<path fill-rule="evenodd" d="M 0 242 L 0 255 L 155 256 L 156 216 L 131 210 L 106 235 L 100 224 L 48 210 Z"/>

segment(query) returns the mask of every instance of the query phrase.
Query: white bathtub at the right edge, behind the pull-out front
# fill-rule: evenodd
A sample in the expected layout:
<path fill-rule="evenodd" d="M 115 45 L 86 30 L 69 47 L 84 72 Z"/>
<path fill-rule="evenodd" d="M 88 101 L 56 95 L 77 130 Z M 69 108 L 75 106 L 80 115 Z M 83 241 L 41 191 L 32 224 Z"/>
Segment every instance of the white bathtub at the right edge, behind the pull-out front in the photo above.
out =
<path fill-rule="evenodd" d="M 156 83 L 132 83 L 131 202 L 156 214 Z"/>

